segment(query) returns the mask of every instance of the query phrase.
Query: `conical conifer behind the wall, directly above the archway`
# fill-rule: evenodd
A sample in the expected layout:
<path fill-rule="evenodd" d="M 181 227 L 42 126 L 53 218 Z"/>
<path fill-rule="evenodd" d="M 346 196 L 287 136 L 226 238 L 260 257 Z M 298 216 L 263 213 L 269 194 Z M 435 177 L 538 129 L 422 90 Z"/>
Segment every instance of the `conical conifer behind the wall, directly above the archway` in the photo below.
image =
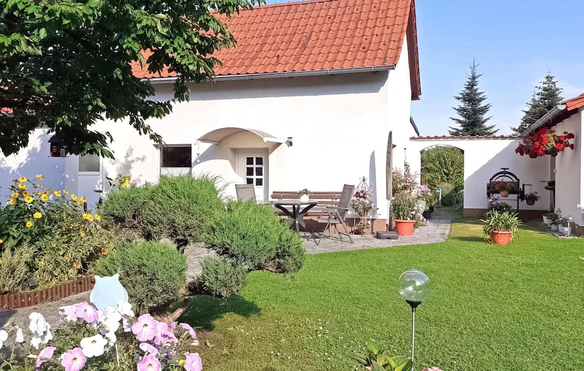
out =
<path fill-rule="evenodd" d="M 485 115 L 491 108 L 491 104 L 483 104 L 486 95 L 478 88 L 478 79 L 482 76 L 482 74 L 477 74 L 478 66 L 474 61 L 472 62 L 471 74 L 467 75 L 463 90 L 459 95 L 454 96 L 454 99 L 460 102 L 458 107 L 453 107 L 458 117 L 450 117 L 450 120 L 456 122 L 459 127 L 450 127 L 450 135 L 492 135 L 499 131 L 499 129 L 494 129 L 495 125 L 486 125 L 491 117 L 485 117 Z"/>

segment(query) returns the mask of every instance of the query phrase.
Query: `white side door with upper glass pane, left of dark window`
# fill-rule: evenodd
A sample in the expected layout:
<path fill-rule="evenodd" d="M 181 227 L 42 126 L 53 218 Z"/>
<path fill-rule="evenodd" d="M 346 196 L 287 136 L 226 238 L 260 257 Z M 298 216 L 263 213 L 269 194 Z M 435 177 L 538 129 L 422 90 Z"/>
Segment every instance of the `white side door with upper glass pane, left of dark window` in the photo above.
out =
<path fill-rule="evenodd" d="M 79 197 L 87 199 L 87 207 L 95 209 L 95 204 L 102 197 L 103 191 L 103 160 L 98 155 L 79 156 L 79 173 L 77 192 Z"/>

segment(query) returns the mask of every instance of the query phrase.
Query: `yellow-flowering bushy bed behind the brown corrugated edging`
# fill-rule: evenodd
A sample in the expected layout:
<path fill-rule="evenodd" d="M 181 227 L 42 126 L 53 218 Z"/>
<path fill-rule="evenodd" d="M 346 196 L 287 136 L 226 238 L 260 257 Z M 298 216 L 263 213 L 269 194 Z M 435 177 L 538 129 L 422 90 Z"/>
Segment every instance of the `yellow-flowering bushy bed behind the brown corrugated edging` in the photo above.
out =
<path fill-rule="evenodd" d="M 83 211 L 85 197 L 45 187 L 41 174 L 36 179 L 15 179 L 8 205 L 0 210 L 0 294 L 30 289 L 28 278 L 39 288 L 71 281 L 91 270 L 116 241 L 100 229 L 98 214 Z M 30 258 L 9 258 L 21 253 Z"/>

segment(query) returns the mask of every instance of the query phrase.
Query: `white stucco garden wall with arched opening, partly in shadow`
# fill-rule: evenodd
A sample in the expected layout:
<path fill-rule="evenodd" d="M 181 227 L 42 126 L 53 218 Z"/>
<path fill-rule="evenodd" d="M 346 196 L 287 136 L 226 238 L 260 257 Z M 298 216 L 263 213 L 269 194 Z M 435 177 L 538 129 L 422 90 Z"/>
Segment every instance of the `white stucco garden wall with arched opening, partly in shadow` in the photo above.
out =
<path fill-rule="evenodd" d="M 541 183 L 541 181 L 550 180 L 549 156 L 537 159 L 520 156 L 515 153 L 519 143 L 520 139 L 415 139 L 412 141 L 411 156 L 413 157 L 422 149 L 435 145 L 450 145 L 462 149 L 464 151 L 465 209 L 485 209 L 487 205 L 486 184 L 495 173 L 501 171 L 502 167 L 508 167 L 507 171 L 519 177 L 520 185 L 532 184 L 531 189 L 537 191 L 541 196 L 541 199 L 532 206 L 520 201 L 519 209 L 547 210 L 551 192 L 544 189 L 547 183 Z M 529 187 L 526 187 L 526 192 L 529 192 Z M 516 199 L 515 195 L 510 195 L 507 199 L 503 198 L 514 208 L 517 205 Z"/>

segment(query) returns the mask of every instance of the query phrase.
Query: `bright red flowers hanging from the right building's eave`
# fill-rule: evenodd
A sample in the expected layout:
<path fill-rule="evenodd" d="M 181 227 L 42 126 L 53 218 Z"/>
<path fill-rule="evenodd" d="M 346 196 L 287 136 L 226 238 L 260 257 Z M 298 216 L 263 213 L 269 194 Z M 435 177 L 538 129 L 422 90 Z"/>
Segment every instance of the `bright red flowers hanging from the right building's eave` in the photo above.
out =
<path fill-rule="evenodd" d="M 574 145 L 569 142 L 569 139 L 573 138 L 571 132 L 564 131 L 563 135 L 556 135 L 555 130 L 540 128 L 535 134 L 523 138 L 515 153 L 528 155 L 532 159 L 544 155 L 557 156 L 558 152 L 566 148 L 574 149 Z"/>

